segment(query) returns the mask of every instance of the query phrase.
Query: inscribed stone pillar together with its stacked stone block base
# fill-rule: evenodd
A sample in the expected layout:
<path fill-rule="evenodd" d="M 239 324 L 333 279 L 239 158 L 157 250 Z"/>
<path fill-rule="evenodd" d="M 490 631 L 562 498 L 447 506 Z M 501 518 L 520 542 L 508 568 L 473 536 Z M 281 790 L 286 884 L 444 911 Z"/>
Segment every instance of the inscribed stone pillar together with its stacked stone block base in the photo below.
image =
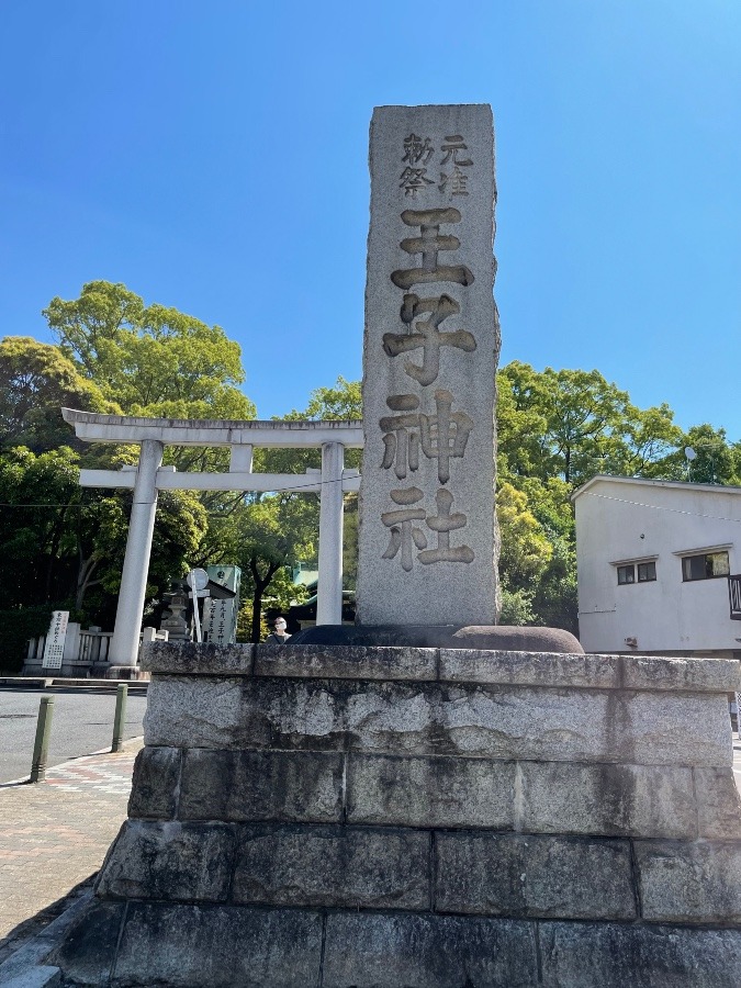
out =
<path fill-rule="evenodd" d="M 373 142 L 363 620 L 487 624 L 491 115 L 385 108 Z M 737 988 L 739 662 L 457 644 L 147 644 L 128 820 L 40 959 L 65 988 Z"/>

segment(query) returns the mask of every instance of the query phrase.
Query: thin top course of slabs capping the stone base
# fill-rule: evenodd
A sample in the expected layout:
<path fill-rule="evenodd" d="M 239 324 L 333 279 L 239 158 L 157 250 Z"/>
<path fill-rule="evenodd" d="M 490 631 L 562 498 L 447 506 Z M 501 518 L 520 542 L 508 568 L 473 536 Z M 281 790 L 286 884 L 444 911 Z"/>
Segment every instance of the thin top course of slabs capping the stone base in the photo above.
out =
<path fill-rule="evenodd" d="M 476 683 L 671 693 L 741 691 L 736 659 L 424 649 L 146 642 L 142 669 L 181 676 Z"/>

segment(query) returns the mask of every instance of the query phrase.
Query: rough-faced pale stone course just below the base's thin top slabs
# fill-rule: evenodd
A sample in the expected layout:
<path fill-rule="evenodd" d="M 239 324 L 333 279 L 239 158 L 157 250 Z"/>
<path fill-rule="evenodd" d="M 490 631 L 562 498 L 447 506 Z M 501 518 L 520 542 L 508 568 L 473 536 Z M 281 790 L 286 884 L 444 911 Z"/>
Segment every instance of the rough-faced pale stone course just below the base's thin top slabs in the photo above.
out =
<path fill-rule="evenodd" d="M 357 680 L 161 677 L 145 742 L 730 765 L 725 696 Z"/>

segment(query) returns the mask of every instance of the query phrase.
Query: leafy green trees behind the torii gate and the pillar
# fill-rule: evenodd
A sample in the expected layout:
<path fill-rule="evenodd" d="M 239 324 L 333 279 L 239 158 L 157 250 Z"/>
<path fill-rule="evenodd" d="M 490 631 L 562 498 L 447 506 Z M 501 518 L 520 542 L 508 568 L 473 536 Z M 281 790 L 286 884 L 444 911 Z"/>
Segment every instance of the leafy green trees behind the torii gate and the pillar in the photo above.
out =
<path fill-rule="evenodd" d="M 218 326 L 144 300 L 123 284 L 91 281 L 80 296 L 44 310 L 58 345 L 0 343 L 0 580 L 11 607 L 66 602 L 109 625 L 121 579 L 131 492 L 81 490 L 81 464 L 117 468 L 137 450 L 78 442 L 59 414 L 85 411 L 179 418 L 254 418 L 240 390 L 242 353 Z M 639 408 L 599 371 L 536 371 L 513 361 L 498 373 L 496 513 L 502 621 L 576 631 L 574 519 L 570 495 L 596 473 L 741 484 L 741 444 L 707 423 L 686 433 L 671 408 Z M 360 419 L 359 381 L 318 386 L 288 419 Z M 692 448 L 687 458 L 685 448 Z M 228 452 L 168 448 L 179 469 L 226 469 Z M 348 450 L 346 464 L 360 463 Z M 250 598 L 258 640 L 266 602 L 301 592 L 297 561 L 316 559 L 318 497 L 301 474 L 319 450 L 256 450 L 256 470 L 295 473 L 274 494 L 161 492 L 148 599 L 188 565 L 233 563 Z M 346 497 L 346 586 L 357 565 L 357 497 Z"/>

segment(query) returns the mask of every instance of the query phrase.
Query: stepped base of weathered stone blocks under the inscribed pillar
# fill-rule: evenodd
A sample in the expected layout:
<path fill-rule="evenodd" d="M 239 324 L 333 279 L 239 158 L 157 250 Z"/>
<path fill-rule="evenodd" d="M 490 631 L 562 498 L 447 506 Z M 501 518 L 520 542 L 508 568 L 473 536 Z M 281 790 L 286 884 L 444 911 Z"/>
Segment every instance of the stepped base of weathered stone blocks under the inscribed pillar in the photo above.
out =
<path fill-rule="evenodd" d="M 155 643 L 67 985 L 720 988 L 722 660 Z"/>

